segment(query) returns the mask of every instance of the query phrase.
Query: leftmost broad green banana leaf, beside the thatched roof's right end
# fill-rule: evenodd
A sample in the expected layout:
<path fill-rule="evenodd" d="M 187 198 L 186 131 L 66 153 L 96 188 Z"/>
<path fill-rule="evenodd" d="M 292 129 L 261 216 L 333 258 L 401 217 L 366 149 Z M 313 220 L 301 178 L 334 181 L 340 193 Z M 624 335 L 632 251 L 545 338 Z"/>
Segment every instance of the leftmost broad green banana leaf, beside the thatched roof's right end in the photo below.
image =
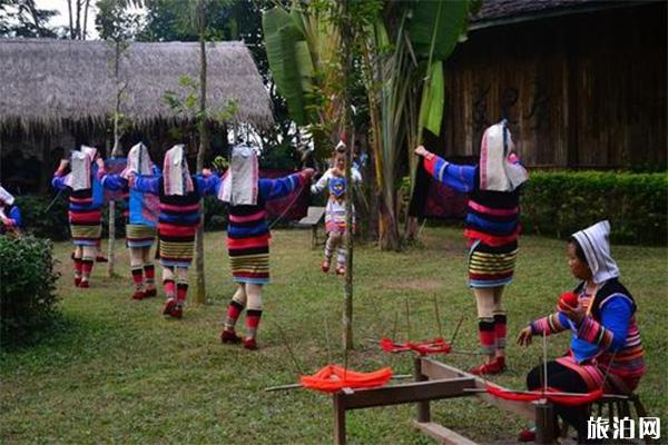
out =
<path fill-rule="evenodd" d="M 303 34 L 293 18 L 278 7 L 263 13 L 262 24 L 274 82 L 278 92 L 287 101 L 289 117 L 297 125 L 306 125 L 308 119 L 303 75 L 308 75 L 310 70 L 308 67 L 299 70 L 304 59 L 301 44 Z M 313 66 L 311 65 L 312 71 Z"/>

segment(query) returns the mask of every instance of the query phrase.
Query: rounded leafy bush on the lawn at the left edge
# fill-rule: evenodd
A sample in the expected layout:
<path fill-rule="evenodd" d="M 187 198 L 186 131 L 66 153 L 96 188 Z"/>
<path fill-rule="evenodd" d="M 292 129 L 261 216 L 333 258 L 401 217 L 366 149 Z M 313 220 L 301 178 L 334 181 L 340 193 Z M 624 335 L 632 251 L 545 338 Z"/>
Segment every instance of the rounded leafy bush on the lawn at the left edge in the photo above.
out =
<path fill-rule="evenodd" d="M 52 325 L 56 280 L 51 241 L 0 237 L 0 343 L 32 343 Z"/>

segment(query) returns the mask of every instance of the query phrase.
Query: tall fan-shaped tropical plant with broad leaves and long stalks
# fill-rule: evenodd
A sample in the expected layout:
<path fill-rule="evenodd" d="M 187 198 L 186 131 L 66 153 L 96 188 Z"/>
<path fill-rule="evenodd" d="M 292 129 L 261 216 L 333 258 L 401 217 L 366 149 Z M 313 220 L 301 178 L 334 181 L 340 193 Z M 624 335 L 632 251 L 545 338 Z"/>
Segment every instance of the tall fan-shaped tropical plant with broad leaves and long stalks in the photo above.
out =
<path fill-rule="evenodd" d="M 350 3 L 350 4 L 348 4 Z M 353 63 L 363 72 L 371 149 L 380 196 L 380 241 L 400 246 L 397 181 L 415 167 L 412 148 L 423 128 L 438 135 L 444 105 L 443 60 L 466 30 L 475 1 L 345 2 L 341 16 L 328 2 L 265 12 L 267 57 L 278 91 L 297 125 L 323 128 L 341 121 L 342 32 L 352 32 Z M 350 82 L 348 82 L 350 83 Z"/>

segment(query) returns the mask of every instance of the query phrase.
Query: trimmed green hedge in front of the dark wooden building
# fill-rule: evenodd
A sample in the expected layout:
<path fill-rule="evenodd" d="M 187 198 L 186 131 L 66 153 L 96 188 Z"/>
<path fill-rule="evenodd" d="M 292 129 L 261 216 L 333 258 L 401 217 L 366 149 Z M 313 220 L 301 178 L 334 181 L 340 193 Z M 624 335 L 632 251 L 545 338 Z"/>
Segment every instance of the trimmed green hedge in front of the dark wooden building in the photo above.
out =
<path fill-rule="evenodd" d="M 615 243 L 667 240 L 668 175 L 532 171 L 522 192 L 525 233 L 568 237 L 601 219 Z"/>

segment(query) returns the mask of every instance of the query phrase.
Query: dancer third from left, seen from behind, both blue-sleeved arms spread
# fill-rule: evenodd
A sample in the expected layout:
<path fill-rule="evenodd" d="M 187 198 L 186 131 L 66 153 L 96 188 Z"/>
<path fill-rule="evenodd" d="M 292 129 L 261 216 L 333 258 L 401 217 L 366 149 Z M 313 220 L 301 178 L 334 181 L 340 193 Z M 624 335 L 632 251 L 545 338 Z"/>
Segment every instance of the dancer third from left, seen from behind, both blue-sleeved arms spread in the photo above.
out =
<path fill-rule="evenodd" d="M 202 220 L 199 200 L 215 192 L 215 177 L 190 176 L 183 145 L 165 154 L 161 177 L 129 175 L 130 189 L 159 197 L 158 255 L 166 303 L 163 314 L 180 318 L 188 294 L 188 267 Z"/>

